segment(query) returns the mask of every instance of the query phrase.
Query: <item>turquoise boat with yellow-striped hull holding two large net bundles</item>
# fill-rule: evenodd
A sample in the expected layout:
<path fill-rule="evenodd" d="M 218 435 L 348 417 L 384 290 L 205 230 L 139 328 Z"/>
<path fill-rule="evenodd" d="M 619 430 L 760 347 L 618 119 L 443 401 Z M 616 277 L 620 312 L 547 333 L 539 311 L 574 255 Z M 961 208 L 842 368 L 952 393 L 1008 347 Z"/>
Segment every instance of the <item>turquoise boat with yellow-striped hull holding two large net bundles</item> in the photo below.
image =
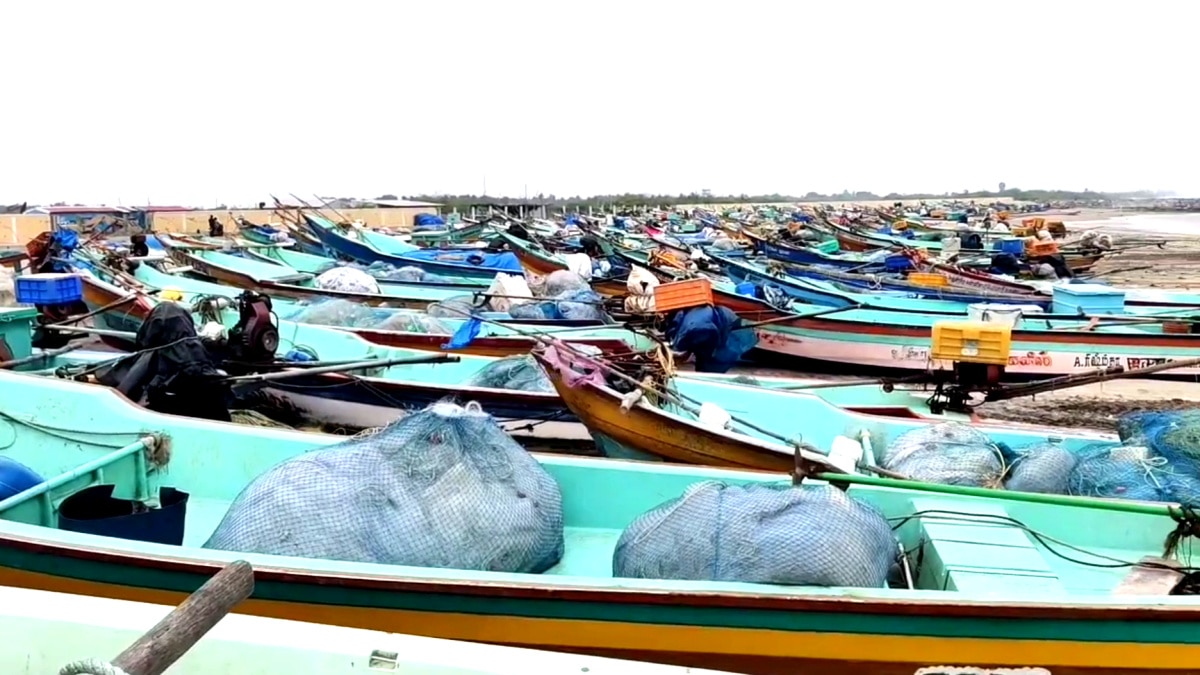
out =
<path fill-rule="evenodd" d="M 1177 561 L 1153 562 L 1169 534 L 1189 536 L 1194 516 L 1164 504 L 827 470 L 792 489 L 845 484 L 895 522 L 908 554 L 900 587 L 629 579 L 613 578 L 612 555 L 640 514 L 698 482 L 785 477 L 539 456 L 564 495 L 557 566 L 544 574 L 392 567 L 200 548 L 250 480 L 338 437 L 160 416 L 109 389 L 10 372 L 0 372 L 0 411 L 5 455 L 46 477 L 0 502 L 8 586 L 176 603 L 240 558 L 256 569 L 254 593 L 239 607 L 246 614 L 752 674 L 973 664 L 1183 675 L 1200 658 L 1200 605 L 1169 595 L 1194 555 L 1181 545 Z M 800 456 L 805 467 L 828 466 Z M 138 503 L 164 486 L 186 492 L 182 543 L 64 528 L 62 501 L 94 485 Z M 1069 555 L 1060 544 L 1073 546 Z"/>

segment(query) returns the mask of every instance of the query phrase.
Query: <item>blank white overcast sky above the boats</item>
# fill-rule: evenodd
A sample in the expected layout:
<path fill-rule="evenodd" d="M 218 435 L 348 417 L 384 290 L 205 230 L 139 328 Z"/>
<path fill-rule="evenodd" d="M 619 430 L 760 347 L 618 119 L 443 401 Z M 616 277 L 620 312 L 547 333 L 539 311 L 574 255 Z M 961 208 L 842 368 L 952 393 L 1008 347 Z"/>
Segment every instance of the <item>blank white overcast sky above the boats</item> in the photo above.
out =
<path fill-rule="evenodd" d="M 1200 2 L 7 1 L 0 203 L 1200 195 Z"/>

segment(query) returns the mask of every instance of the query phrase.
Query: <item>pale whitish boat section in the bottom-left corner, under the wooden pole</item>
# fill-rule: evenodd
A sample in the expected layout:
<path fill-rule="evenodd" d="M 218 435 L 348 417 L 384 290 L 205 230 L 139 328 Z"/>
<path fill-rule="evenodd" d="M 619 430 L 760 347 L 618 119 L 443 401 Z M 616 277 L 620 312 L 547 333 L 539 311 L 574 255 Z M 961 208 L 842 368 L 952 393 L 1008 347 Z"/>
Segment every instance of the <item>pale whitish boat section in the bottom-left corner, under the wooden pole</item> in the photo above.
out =
<path fill-rule="evenodd" d="M 146 592 L 145 597 L 168 593 Z M 170 609 L 163 604 L 0 587 L 0 663 L 10 675 L 100 673 Z M 343 675 L 364 669 L 462 675 L 683 675 L 712 673 L 586 655 L 556 653 L 229 614 L 170 665 L 173 675 Z"/>

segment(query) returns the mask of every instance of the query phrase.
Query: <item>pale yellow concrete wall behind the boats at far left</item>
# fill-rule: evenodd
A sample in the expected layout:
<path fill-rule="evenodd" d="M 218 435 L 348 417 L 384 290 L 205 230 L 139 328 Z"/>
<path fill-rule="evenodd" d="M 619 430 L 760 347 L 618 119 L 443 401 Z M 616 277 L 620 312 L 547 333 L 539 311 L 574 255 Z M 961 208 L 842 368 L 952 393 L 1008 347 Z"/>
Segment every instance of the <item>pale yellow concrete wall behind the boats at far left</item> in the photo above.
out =
<path fill-rule="evenodd" d="M 367 227 L 410 229 L 416 214 L 436 214 L 437 209 L 346 209 L 338 213 L 348 220 L 361 220 Z M 224 223 L 226 232 L 236 228 L 234 217 L 244 217 L 254 225 L 280 222 L 280 216 L 271 210 L 164 211 L 154 214 L 152 227 L 157 232 L 206 234 L 210 215 L 217 216 Z M 326 215 L 332 214 L 326 213 Z M 0 245 L 24 245 L 49 228 L 50 216 L 0 215 Z"/>

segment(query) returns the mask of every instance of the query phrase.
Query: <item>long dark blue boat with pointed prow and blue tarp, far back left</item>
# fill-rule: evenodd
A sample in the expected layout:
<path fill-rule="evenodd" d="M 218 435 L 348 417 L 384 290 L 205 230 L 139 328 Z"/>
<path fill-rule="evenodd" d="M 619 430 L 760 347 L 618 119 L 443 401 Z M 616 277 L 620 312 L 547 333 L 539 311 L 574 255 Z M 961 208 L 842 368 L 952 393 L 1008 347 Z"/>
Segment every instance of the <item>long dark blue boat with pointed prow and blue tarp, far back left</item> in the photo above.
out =
<path fill-rule="evenodd" d="M 355 235 L 344 234 L 338 226 L 316 214 L 302 214 L 310 232 L 326 249 L 361 263 L 388 263 L 395 267 L 414 265 L 433 274 L 446 274 L 456 277 L 491 281 L 497 273 L 520 273 L 521 263 L 508 252 L 488 253 L 479 250 L 440 250 L 418 249 L 410 246 L 404 253 L 390 253 L 379 250 L 374 244 L 382 244 L 385 234 L 370 231 L 355 231 Z M 390 239 L 390 246 L 404 244 L 400 239 Z"/>

